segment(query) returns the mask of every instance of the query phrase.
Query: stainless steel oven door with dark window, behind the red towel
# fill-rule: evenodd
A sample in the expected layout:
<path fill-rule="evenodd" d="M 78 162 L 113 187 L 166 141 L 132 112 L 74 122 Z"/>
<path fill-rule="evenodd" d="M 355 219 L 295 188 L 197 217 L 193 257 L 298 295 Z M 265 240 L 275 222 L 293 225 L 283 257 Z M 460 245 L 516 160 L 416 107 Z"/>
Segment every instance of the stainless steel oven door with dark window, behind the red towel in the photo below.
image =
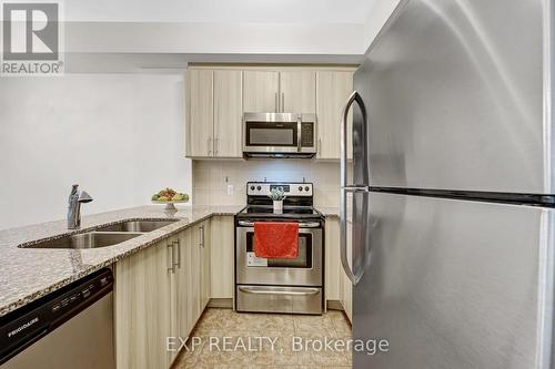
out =
<path fill-rule="evenodd" d="M 299 256 L 265 259 L 254 256 L 254 227 L 236 228 L 239 285 L 322 286 L 322 228 L 299 228 Z"/>

